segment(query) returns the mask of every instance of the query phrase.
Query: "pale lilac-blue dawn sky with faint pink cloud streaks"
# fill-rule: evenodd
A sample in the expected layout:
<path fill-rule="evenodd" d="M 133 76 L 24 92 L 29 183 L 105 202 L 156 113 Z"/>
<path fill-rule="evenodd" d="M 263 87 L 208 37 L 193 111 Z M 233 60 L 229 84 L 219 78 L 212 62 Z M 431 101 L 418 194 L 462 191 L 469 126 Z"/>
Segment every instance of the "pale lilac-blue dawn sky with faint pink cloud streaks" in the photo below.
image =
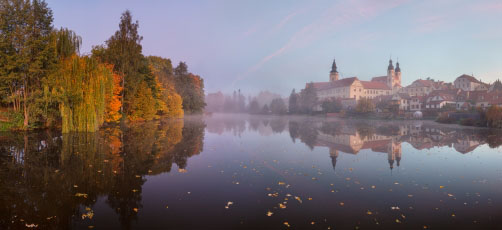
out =
<path fill-rule="evenodd" d="M 399 60 L 403 85 L 419 78 L 452 82 L 474 74 L 502 78 L 502 1 L 483 0 L 47 0 L 55 27 L 82 37 L 81 53 L 139 21 L 145 55 L 187 63 L 206 93 L 288 96 L 328 81 L 333 59 L 342 78 L 386 75 Z"/>

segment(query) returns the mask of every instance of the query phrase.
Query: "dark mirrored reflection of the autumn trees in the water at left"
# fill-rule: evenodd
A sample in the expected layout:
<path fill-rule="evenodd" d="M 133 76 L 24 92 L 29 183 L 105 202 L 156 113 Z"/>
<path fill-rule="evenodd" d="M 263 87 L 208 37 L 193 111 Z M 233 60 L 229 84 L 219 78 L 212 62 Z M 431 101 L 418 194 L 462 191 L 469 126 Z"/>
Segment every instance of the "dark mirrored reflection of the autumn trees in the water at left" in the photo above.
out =
<path fill-rule="evenodd" d="M 96 133 L 0 133 L 0 228 L 65 228 L 98 197 L 130 228 L 145 175 L 180 169 L 202 151 L 204 122 L 166 120 Z"/>

